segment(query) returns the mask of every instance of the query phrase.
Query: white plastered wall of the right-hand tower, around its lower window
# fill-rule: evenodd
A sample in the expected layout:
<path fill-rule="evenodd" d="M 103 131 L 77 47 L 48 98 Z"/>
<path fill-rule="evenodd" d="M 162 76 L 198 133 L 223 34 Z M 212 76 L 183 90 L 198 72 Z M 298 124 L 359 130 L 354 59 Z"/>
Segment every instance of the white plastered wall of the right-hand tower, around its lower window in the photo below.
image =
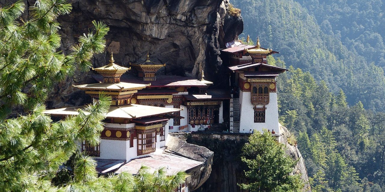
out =
<path fill-rule="evenodd" d="M 256 130 L 262 132 L 262 129 L 274 130 L 276 133 L 280 133 L 278 125 L 278 102 L 277 93 L 269 93 L 270 101 L 266 107 L 266 116 L 264 123 L 254 123 L 254 109 L 251 104 L 250 92 L 239 91 L 239 104 L 240 104 L 240 119 L 239 119 L 239 132 L 249 132 L 249 130 Z M 256 107 L 263 107 L 263 105 L 257 105 Z"/>

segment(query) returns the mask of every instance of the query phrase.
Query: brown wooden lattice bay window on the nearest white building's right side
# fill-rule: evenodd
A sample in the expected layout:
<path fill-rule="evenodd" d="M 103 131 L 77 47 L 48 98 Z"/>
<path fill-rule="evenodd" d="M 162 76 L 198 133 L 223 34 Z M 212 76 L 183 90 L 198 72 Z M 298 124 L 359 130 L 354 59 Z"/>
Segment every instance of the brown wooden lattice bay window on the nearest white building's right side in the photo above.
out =
<path fill-rule="evenodd" d="M 137 153 L 138 155 L 149 154 L 155 152 L 156 149 L 156 131 L 150 129 L 137 132 Z"/>

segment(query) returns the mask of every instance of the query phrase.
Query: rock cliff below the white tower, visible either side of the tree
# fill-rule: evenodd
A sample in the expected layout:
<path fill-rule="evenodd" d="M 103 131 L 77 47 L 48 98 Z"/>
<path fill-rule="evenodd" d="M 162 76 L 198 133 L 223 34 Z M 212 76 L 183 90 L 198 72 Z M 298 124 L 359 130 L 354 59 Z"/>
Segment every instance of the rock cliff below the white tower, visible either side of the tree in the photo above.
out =
<path fill-rule="evenodd" d="M 286 154 L 299 161 L 292 174 L 301 174 L 301 179 L 305 182 L 303 192 L 311 192 L 308 183 L 305 162 L 301 158 L 301 153 L 296 146 L 289 144 L 290 132 L 286 127 L 280 126 L 285 134 L 281 137 L 281 143 L 286 146 Z M 249 134 L 242 133 L 205 133 L 192 132 L 187 136 L 187 142 L 199 146 L 207 147 L 214 152 L 213 165 L 208 180 L 199 187 L 196 192 L 239 192 L 241 189 L 238 183 L 246 182 L 243 170 L 247 169 L 240 159 L 240 152 L 243 145 L 247 142 Z"/>

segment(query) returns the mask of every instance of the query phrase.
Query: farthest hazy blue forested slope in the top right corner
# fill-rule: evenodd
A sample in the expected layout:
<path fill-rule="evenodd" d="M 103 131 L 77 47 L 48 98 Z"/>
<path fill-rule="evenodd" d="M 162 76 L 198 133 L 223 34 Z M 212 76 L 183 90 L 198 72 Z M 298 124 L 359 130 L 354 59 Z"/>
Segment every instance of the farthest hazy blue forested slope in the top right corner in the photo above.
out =
<path fill-rule="evenodd" d="M 296 0 L 311 12 L 323 33 L 333 35 L 368 62 L 385 67 L 385 3 L 381 0 Z"/>

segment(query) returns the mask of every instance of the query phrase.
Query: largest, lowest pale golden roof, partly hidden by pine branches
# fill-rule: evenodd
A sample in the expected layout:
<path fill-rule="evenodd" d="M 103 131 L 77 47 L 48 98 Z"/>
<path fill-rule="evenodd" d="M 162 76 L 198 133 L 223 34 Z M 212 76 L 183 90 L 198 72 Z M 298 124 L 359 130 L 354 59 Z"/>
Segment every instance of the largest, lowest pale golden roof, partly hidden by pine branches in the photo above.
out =
<path fill-rule="evenodd" d="M 85 108 L 86 106 L 50 109 L 50 110 L 45 110 L 43 113 L 52 114 L 52 115 L 77 115 L 79 114 L 78 112 L 79 109 L 84 110 Z M 125 106 L 110 106 L 110 109 L 108 110 L 108 113 L 106 114 L 106 116 L 107 118 L 135 119 L 135 118 L 143 118 L 143 117 L 173 113 L 181 110 L 182 109 L 130 104 Z"/>

